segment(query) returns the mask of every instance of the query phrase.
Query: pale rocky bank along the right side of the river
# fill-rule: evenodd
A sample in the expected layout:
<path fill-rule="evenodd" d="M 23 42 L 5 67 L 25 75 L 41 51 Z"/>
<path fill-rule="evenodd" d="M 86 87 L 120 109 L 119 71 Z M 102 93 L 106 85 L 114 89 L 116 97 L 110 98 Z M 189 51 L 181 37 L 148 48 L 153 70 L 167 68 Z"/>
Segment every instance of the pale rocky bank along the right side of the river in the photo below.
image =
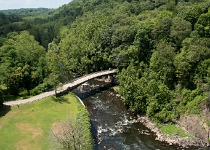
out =
<path fill-rule="evenodd" d="M 116 92 L 118 92 L 119 88 L 114 87 L 113 88 Z M 111 93 L 114 94 L 114 93 Z M 123 97 L 119 94 L 116 94 L 117 97 L 121 98 L 123 100 Z M 164 134 L 161 129 L 151 121 L 150 118 L 146 117 L 145 115 L 137 115 L 136 119 L 133 119 L 133 123 L 142 123 L 144 126 L 149 128 L 152 132 L 156 134 L 156 139 L 158 141 L 163 141 L 168 143 L 169 145 L 179 145 L 180 147 L 187 148 L 187 147 L 207 147 L 209 146 L 207 143 L 205 143 L 202 139 L 196 138 L 194 136 L 185 136 L 185 137 L 180 137 L 177 133 L 174 133 L 172 135 L 169 134 Z M 187 133 L 184 128 L 177 124 L 175 124 L 178 128 L 183 129 L 184 132 Z"/>

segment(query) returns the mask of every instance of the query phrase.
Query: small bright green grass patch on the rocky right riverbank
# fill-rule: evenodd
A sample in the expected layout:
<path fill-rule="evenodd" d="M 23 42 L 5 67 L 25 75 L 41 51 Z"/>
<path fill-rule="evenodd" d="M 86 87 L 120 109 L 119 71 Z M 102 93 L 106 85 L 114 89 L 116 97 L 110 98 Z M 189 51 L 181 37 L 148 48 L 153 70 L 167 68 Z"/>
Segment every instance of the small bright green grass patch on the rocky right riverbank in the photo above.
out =
<path fill-rule="evenodd" d="M 170 136 L 178 135 L 179 137 L 190 137 L 189 134 L 174 124 L 163 125 L 160 129 L 164 134 L 168 134 Z"/>

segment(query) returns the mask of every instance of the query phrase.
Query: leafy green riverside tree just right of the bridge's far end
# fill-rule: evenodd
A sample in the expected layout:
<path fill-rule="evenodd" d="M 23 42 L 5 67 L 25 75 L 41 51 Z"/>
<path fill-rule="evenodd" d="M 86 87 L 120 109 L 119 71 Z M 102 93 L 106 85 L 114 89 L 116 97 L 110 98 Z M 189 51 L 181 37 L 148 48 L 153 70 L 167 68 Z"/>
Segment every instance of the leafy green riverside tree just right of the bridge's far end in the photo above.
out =
<path fill-rule="evenodd" d="M 146 112 L 146 79 L 141 78 L 142 67 L 138 68 L 131 63 L 127 69 L 123 69 L 117 76 L 120 82 L 119 93 L 124 97 L 124 104 L 131 111 Z"/>

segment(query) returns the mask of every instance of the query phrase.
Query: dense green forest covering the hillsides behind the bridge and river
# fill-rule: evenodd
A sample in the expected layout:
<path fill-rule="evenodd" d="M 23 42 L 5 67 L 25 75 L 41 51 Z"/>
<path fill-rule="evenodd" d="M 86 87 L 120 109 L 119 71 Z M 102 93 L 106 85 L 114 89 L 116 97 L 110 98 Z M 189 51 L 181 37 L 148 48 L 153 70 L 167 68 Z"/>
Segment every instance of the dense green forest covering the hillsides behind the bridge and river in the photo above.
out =
<path fill-rule="evenodd" d="M 157 122 L 199 114 L 210 103 L 209 8 L 209 0 L 74 0 L 43 14 L 2 12 L 0 99 L 117 68 L 130 110 Z"/>

